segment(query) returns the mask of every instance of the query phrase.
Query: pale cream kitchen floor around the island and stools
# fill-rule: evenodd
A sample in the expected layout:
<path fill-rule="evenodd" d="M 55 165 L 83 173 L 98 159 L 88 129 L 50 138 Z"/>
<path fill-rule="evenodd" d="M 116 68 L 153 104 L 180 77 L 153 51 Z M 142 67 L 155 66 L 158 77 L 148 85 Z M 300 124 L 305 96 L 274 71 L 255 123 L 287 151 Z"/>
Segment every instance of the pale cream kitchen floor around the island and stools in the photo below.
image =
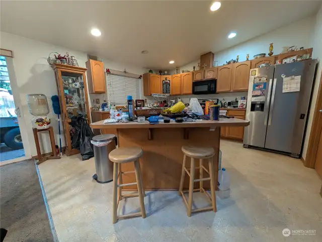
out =
<path fill-rule="evenodd" d="M 226 199 L 217 196 L 217 213 L 187 217 L 177 192 L 147 191 L 147 217 L 116 224 L 112 184 L 92 181 L 93 158 L 47 160 L 39 170 L 59 241 L 322 241 L 321 180 L 314 170 L 300 159 L 246 149 L 237 142 L 222 140 L 221 150 L 231 193 Z M 203 196 L 194 197 L 198 206 L 207 203 Z M 118 212 L 138 208 L 138 199 L 128 198 Z M 284 228 L 316 231 L 284 237 Z"/>

